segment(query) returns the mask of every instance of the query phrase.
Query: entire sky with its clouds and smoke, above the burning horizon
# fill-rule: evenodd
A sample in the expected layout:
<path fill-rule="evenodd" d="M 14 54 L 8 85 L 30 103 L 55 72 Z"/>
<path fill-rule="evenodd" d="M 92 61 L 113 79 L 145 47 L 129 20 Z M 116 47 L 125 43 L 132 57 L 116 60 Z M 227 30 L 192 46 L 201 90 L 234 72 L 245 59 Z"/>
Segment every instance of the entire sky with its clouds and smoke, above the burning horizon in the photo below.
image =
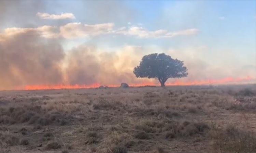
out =
<path fill-rule="evenodd" d="M 0 89 L 155 82 L 132 70 L 162 52 L 188 68 L 169 82 L 256 82 L 256 1 L 0 1 Z"/>

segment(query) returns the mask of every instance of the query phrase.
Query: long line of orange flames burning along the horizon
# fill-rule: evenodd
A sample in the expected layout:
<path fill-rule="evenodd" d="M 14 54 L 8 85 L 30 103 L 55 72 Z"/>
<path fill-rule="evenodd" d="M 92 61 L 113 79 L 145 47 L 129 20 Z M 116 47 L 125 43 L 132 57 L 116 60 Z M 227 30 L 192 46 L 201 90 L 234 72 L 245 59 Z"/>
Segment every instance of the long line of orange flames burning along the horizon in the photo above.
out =
<path fill-rule="evenodd" d="M 252 77 L 246 77 L 246 78 L 233 78 L 233 77 L 227 77 L 219 80 L 202 80 L 202 81 L 174 81 L 174 82 L 167 82 L 167 86 L 184 86 L 184 85 L 209 85 L 209 84 L 226 84 L 231 82 L 244 82 L 244 81 L 255 81 Z M 46 89 L 81 89 L 81 88 L 96 88 L 99 87 L 100 83 L 90 84 L 90 85 L 26 85 L 22 88 L 16 88 L 18 90 L 46 90 Z M 158 86 L 159 83 L 155 82 L 142 82 L 142 83 L 136 83 L 136 84 L 129 84 L 133 87 L 139 87 L 139 86 Z M 118 87 L 117 84 L 108 85 L 108 87 Z"/>

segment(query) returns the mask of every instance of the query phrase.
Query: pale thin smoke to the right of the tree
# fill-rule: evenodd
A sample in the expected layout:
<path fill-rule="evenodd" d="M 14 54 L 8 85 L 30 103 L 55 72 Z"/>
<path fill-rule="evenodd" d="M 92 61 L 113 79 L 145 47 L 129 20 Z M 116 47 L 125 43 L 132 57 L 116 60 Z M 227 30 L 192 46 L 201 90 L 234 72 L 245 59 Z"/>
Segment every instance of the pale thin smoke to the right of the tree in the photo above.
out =
<path fill-rule="evenodd" d="M 256 78 L 255 65 L 244 65 L 245 62 L 239 61 L 234 54 L 226 52 L 225 55 L 225 52 L 218 53 L 217 50 L 215 54 L 211 54 L 209 50 L 204 47 L 191 47 L 167 50 L 166 54 L 184 61 L 184 65 L 188 68 L 188 77 L 182 78 L 183 81 L 217 80 L 226 77 L 243 78 L 246 76 Z"/>

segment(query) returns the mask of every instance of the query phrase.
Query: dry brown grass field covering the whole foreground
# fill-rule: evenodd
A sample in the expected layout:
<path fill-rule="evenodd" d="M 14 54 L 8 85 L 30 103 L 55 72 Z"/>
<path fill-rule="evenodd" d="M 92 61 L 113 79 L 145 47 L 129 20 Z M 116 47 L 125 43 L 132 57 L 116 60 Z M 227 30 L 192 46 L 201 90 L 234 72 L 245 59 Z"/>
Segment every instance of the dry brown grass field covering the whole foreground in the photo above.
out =
<path fill-rule="evenodd" d="M 0 152 L 256 152 L 256 86 L 0 91 Z"/>

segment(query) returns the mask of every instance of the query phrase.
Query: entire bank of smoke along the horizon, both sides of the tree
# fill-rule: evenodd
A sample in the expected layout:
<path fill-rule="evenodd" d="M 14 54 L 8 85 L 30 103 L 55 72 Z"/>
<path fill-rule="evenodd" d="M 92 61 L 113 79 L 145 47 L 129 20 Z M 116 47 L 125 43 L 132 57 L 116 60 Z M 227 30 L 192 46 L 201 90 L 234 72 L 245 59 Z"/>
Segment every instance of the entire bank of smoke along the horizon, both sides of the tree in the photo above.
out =
<path fill-rule="evenodd" d="M 15 89 L 26 85 L 158 83 L 154 79 L 138 79 L 133 74 L 133 68 L 139 64 L 145 53 L 154 53 L 156 50 L 126 45 L 106 52 L 102 48 L 82 44 L 64 52 L 60 43 L 59 39 L 42 37 L 41 33 L 34 29 L 1 33 L 0 89 Z M 202 50 L 166 50 L 165 53 L 184 61 L 187 66 L 189 75 L 180 79 L 181 81 L 247 75 L 255 78 L 254 65 L 241 67 L 241 64 L 238 64 L 240 67 L 233 68 L 214 66 L 214 63 L 203 58 Z M 173 81 L 175 79 L 168 80 Z"/>

